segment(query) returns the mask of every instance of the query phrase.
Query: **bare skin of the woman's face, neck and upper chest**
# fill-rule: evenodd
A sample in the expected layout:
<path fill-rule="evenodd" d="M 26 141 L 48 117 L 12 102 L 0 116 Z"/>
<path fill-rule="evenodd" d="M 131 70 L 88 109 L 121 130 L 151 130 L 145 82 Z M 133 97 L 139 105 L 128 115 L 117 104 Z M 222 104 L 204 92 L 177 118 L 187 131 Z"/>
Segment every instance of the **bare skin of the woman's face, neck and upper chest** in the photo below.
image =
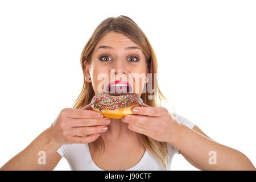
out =
<path fill-rule="evenodd" d="M 113 49 L 101 48 L 97 50 L 100 46 L 109 46 L 113 47 Z M 85 67 L 85 79 L 88 82 L 92 82 L 96 94 L 98 93 L 97 86 L 101 82 L 101 80 L 97 79 L 100 73 L 105 73 L 109 78 L 110 74 L 113 74 L 114 77 L 117 77 L 118 74 L 129 77 L 129 73 L 144 73 L 146 75 L 148 69 L 143 52 L 141 49 L 125 49 L 131 46 L 138 47 L 137 44 L 126 36 L 113 32 L 107 33 L 97 43 L 91 63 Z M 104 57 L 105 60 L 108 59 L 109 61 L 100 61 L 99 58 L 102 55 L 109 55 L 109 57 Z M 127 61 L 131 59 L 131 57 L 127 57 L 130 55 L 137 56 L 139 61 L 134 63 Z M 115 72 L 111 73 L 110 69 L 115 69 Z M 89 78 L 91 78 L 91 80 L 89 80 Z M 144 82 L 140 82 L 137 85 L 143 84 Z M 135 85 L 134 80 L 133 88 Z M 139 96 L 141 96 L 142 89 L 142 87 L 138 89 Z M 110 119 L 108 131 L 102 133 L 101 138 L 105 143 L 105 151 L 101 156 L 96 159 L 95 149 L 89 149 L 94 163 L 105 170 L 123 170 L 131 168 L 141 160 L 146 150 L 139 141 L 139 134 L 129 130 L 127 124 L 123 123 L 121 119 Z M 130 150 L 130 148 L 133 148 L 133 150 Z M 127 158 L 127 156 L 131 157 Z M 126 159 L 126 161 L 123 161 L 123 159 Z M 120 163 L 120 161 L 122 161 L 122 163 Z"/>

